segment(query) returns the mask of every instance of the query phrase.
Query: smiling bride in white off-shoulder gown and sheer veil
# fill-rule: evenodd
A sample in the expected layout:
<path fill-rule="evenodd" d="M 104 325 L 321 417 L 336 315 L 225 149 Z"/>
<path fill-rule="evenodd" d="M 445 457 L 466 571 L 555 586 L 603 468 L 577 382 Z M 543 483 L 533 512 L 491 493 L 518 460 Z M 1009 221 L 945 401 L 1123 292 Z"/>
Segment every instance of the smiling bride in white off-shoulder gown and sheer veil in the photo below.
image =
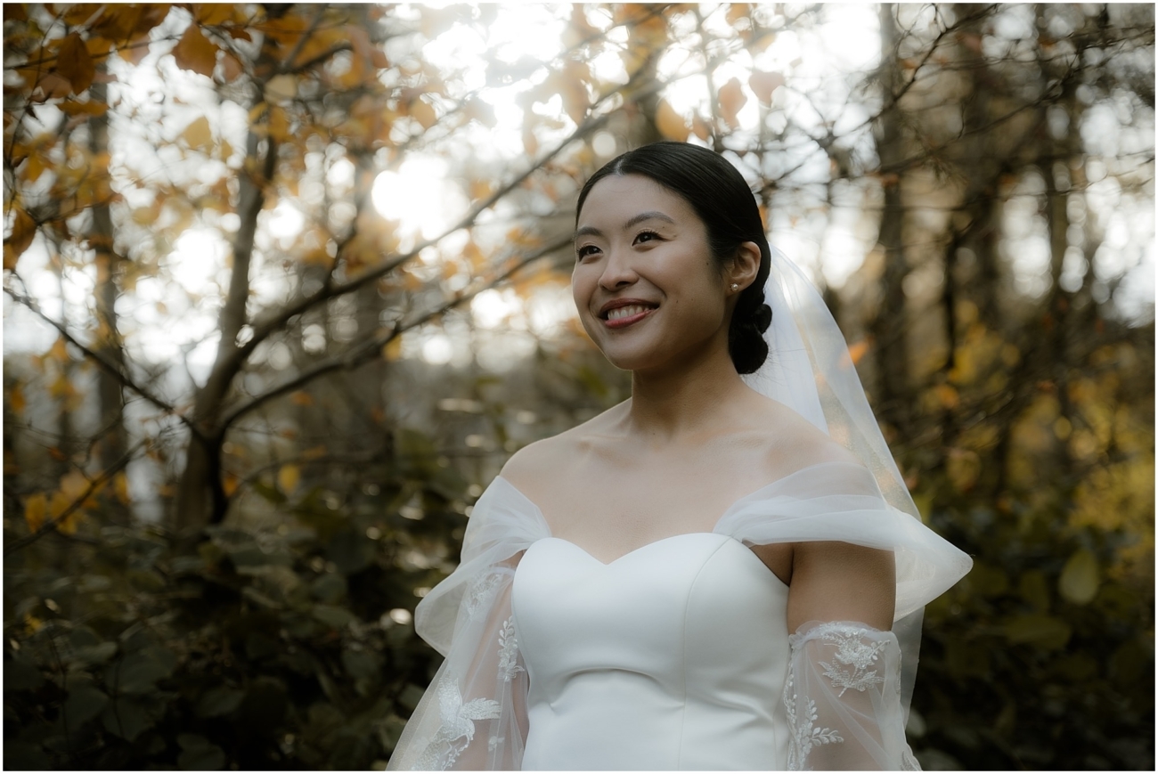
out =
<path fill-rule="evenodd" d="M 579 195 L 584 328 L 631 399 L 516 453 L 418 606 L 446 656 L 391 768 L 918 768 L 928 530 L 816 291 L 724 158 Z"/>

